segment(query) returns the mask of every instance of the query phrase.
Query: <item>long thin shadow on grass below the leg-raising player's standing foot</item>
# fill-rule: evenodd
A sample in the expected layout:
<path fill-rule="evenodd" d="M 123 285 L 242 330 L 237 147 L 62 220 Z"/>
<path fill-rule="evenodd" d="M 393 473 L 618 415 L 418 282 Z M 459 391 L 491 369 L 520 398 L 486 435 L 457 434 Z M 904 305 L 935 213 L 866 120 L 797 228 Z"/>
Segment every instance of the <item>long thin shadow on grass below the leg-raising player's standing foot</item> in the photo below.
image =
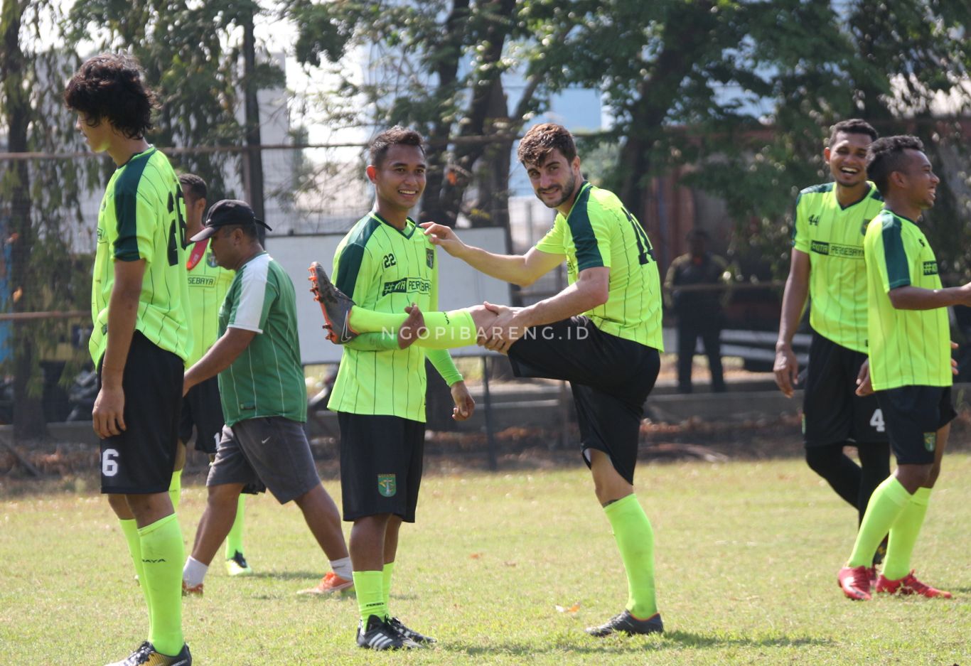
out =
<path fill-rule="evenodd" d="M 581 641 L 585 641 L 581 643 Z M 582 636 L 574 640 L 570 637 L 557 637 L 548 648 L 543 649 L 533 643 L 497 643 L 492 646 L 475 646 L 467 643 L 449 643 L 441 646 L 450 652 L 460 652 L 470 656 L 483 654 L 535 654 L 537 652 L 567 651 L 579 654 L 625 654 L 662 649 L 723 649 L 723 648 L 799 648 L 803 646 L 833 645 L 834 641 L 811 636 L 767 636 L 749 638 L 745 636 L 720 636 L 717 634 L 695 634 L 689 631 L 668 631 L 662 636 L 617 637 L 606 639 L 589 638 L 588 643 Z"/>

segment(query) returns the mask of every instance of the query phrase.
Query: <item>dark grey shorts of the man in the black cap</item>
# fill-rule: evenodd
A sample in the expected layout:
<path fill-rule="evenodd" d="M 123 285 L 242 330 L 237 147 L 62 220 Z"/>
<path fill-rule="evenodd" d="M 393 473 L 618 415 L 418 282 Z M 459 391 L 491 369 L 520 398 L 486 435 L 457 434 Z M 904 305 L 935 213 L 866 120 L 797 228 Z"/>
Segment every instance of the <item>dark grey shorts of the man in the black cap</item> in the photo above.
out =
<path fill-rule="evenodd" d="M 303 424 L 264 416 L 222 426 L 206 485 L 225 483 L 268 489 L 281 504 L 319 485 Z"/>

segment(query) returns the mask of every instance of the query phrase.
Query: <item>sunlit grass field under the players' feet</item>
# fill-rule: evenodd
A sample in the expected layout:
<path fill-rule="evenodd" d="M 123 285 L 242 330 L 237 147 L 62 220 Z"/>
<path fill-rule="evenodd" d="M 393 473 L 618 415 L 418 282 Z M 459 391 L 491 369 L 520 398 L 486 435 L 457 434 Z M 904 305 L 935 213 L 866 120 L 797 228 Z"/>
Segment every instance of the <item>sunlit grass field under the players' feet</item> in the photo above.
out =
<path fill-rule="evenodd" d="M 597 640 L 626 583 L 581 467 L 425 479 L 402 530 L 392 612 L 435 649 L 355 647 L 352 597 L 294 592 L 325 562 L 295 507 L 251 500 L 247 556 L 184 604 L 196 666 L 257 664 L 969 664 L 971 455 L 954 453 L 915 566 L 955 599 L 851 602 L 835 574 L 854 516 L 799 460 L 642 466 L 667 632 Z M 327 489 L 339 497 L 336 483 Z M 205 489 L 180 510 L 191 541 Z M 98 495 L 0 501 L 0 664 L 100 666 L 143 638 L 145 611 L 117 521 Z M 557 606 L 567 610 L 561 612 Z"/>

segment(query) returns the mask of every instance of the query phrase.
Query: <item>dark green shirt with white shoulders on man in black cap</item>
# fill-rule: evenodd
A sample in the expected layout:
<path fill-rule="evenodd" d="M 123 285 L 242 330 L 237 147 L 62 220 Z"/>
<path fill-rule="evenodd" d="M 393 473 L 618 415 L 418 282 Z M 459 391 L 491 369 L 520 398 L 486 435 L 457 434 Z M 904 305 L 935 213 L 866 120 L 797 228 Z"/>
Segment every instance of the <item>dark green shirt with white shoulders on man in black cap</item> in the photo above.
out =
<path fill-rule="evenodd" d="M 297 302 L 285 270 L 260 252 L 236 272 L 219 308 L 219 335 L 254 331 L 250 345 L 219 373 L 226 425 L 260 416 L 307 420 L 307 384 L 300 364 Z"/>

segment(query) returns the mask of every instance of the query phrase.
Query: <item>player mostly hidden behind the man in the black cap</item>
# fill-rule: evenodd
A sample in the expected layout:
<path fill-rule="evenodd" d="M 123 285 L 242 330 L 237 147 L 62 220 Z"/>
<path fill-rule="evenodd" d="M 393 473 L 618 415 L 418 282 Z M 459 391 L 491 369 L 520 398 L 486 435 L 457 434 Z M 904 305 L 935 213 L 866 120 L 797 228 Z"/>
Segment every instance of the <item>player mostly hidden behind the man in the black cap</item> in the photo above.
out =
<path fill-rule="evenodd" d="M 202 231 L 202 217 L 206 213 L 206 182 L 195 174 L 179 177 L 185 197 L 185 226 L 188 236 Z M 185 261 L 188 271 L 189 316 L 192 319 L 194 344 L 192 356 L 186 366 L 202 358 L 218 338 L 219 306 L 225 300 L 233 272 L 220 267 L 209 250 L 209 239 L 192 245 Z M 222 432 L 222 407 L 219 404 L 218 379 L 211 377 L 193 386 L 183 399 L 182 417 L 179 422 L 179 447 L 176 471 L 172 475 L 169 495 L 172 505 L 179 508 L 182 489 L 182 471 L 185 465 L 185 446 L 195 430 L 195 448 L 209 455 L 210 462 L 216 457 L 216 445 Z M 226 537 L 226 572 L 230 576 L 249 576 L 252 569 L 243 555 L 244 493 L 240 493 L 236 507 L 236 520 Z"/>

